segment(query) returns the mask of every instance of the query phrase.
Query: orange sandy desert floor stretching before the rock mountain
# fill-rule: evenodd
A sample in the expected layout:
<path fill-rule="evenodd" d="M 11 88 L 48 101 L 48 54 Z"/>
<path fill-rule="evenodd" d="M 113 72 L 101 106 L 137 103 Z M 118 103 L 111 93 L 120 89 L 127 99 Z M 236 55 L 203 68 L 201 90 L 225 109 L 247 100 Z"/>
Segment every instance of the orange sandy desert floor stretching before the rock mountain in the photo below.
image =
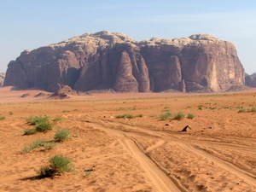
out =
<path fill-rule="evenodd" d="M 40 92 L 45 95 L 34 97 Z M 256 113 L 238 113 L 256 107 L 256 90 L 67 100 L 47 94 L 0 88 L 0 191 L 256 191 Z M 161 120 L 168 111 L 195 118 Z M 142 117 L 115 118 L 125 113 Z M 62 122 L 53 131 L 23 136 L 31 115 L 61 116 Z M 191 130 L 181 131 L 186 125 Z M 69 129 L 71 139 L 21 153 L 39 138 L 51 141 L 59 127 Z M 32 179 L 55 154 L 70 158 L 76 172 Z"/>

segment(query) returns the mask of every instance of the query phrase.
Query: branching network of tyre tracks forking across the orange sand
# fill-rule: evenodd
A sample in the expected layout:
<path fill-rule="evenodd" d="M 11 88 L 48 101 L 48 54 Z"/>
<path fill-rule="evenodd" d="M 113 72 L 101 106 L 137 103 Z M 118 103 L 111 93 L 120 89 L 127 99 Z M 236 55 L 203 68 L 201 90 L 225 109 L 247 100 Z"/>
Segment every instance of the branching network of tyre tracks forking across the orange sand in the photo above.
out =
<path fill-rule="evenodd" d="M 248 146 L 239 143 L 225 143 L 223 142 L 223 138 L 220 138 L 218 142 L 196 139 L 194 140 L 193 137 L 190 140 L 186 140 L 187 138 L 184 137 L 186 136 L 184 134 L 172 134 L 170 132 L 146 130 L 145 128 L 138 126 L 124 125 L 119 124 L 118 122 L 105 122 L 96 119 L 90 119 L 88 122 L 83 122 L 83 124 L 90 124 L 93 128 L 105 131 L 109 135 L 116 137 L 116 139 L 127 150 L 127 152 L 131 154 L 132 157 L 137 160 L 137 162 L 140 163 L 140 165 L 143 167 L 143 170 L 147 173 L 148 178 L 159 191 L 187 191 L 186 189 L 183 189 L 183 185 L 176 179 L 172 178 L 170 175 L 166 175 L 165 168 L 160 167 L 157 162 L 154 162 L 154 160 L 151 159 L 152 157 L 147 155 L 148 152 L 156 148 L 163 147 L 170 141 L 177 143 L 177 145 L 184 148 L 185 150 L 188 150 L 189 152 L 192 152 L 195 155 L 199 155 L 202 158 L 211 160 L 214 163 L 214 166 L 218 166 L 227 172 L 235 174 L 237 177 L 241 177 L 245 183 L 256 187 L 256 176 L 251 172 L 247 172 L 246 170 L 236 166 L 236 164 L 227 160 L 223 160 L 221 157 L 218 157 L 218 155 L 207 153 L 207 151 L 200 148 L 209 147 L 216 143 L 218 148 L 225 146 L 227 148 L 239 148 L 239 150 L 242 150 L 243 148 L 253 149 L 253 145 Z M 122 127 L 123 129 L 119 130 L 119 127 Z M 158 141 L 143 149 L 141 143 L 137 142 L 138 137 L 154 138 Z M 241 141 L 243 139 L 244 138 L 241 138 Z M 255 151 L 252 150 L 251 153 L 255 153 Z"/>

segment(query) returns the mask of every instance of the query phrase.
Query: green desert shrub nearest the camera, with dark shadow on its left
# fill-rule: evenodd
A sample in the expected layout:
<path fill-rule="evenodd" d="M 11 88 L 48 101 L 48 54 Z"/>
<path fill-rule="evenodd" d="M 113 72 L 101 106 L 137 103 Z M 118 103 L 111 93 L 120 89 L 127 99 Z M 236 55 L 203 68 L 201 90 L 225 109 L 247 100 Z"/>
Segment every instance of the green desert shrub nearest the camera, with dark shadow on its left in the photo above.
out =
<path fill-rule="evenodd" d="M 71 160 L 64 157 L 62 154 L 57 154 L 49 159 L 49 165 L 43 166 L 38 171 L 38 177 L 53 177 L 61 175 L 65 172 L 73 172 L 73 165 Z"/>

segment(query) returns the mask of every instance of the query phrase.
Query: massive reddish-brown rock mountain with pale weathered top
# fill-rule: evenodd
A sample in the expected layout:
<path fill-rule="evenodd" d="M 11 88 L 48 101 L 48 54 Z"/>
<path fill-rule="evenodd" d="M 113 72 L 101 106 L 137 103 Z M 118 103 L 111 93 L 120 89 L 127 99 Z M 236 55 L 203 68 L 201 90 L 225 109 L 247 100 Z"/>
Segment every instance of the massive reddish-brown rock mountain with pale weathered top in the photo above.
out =
<path fill-rule="evenodd" d="M 136 41 L 96 32 L 25 50 L 10 61 L 4 86 L 55 91 L 224 91 L 245 83 L 236 48 L 211 35 Z"/>

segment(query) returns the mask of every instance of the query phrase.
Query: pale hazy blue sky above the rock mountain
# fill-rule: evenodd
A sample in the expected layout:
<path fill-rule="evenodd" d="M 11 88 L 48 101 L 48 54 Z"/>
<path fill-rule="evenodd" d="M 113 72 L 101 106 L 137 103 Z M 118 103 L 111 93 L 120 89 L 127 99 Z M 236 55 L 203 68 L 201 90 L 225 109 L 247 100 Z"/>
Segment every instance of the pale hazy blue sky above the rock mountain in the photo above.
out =
<path fill-rule="evenodd" d="M 102 30 L 137 40 L 209 33 L 256 72 L 255 0 L 0 0 L 0 24 L 0 72 L 24 49 Z"/>

